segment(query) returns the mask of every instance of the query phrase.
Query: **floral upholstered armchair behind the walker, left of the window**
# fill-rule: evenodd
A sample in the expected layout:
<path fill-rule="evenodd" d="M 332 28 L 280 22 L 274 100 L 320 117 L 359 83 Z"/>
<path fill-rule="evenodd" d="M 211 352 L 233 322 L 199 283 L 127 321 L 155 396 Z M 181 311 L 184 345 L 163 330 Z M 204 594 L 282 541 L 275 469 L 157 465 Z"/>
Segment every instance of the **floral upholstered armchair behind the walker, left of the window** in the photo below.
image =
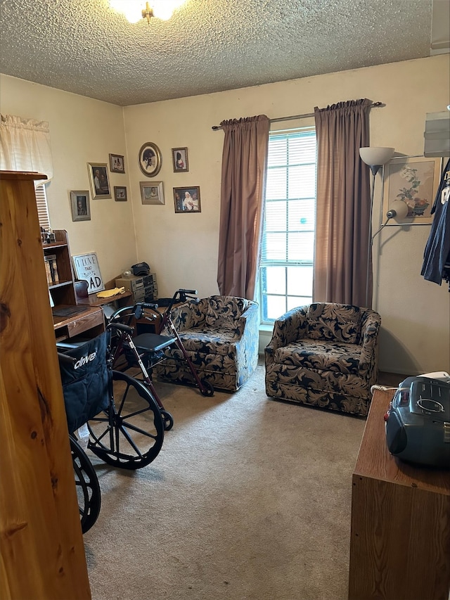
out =
<path fill-rule="evenodd" d="M 172 321 L 200 379 L 218 390 L 235 392 L 258 363 L 259 311 L 257 302 L 214 295 L 189 300 L 172 310 Z M 171 335 L 169 330 L 162 334 Z M 181 350 L 165 349 L 165 360 L 155 367 L 162 381 L 192 383 Z"/>

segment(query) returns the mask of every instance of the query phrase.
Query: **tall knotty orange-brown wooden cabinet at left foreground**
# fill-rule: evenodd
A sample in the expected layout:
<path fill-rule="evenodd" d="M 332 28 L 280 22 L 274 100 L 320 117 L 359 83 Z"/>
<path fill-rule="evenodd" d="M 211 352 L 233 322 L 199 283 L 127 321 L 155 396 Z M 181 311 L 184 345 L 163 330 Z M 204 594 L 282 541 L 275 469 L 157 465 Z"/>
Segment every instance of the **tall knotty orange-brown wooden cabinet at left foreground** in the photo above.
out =
<path fill-rule="evenodd" d="M 34 179 L 0 172 L 0 597 L 89 600 Z"/>

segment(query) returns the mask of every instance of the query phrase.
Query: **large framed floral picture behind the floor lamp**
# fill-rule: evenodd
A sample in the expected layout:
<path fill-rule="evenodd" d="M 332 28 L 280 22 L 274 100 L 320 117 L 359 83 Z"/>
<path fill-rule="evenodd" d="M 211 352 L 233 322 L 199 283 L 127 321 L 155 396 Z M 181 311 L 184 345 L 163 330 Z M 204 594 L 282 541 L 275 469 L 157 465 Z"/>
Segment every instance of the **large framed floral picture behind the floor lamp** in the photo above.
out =
<path fill-rule="evenodd" d="M 387 162 L 383 167 L 383 215 L 394 200 L 403 200 L 408 207 L 401 222 L 390 219 L 387 225 L 430 224 L 441 171 L 442 158 L 398 156 Z"/>

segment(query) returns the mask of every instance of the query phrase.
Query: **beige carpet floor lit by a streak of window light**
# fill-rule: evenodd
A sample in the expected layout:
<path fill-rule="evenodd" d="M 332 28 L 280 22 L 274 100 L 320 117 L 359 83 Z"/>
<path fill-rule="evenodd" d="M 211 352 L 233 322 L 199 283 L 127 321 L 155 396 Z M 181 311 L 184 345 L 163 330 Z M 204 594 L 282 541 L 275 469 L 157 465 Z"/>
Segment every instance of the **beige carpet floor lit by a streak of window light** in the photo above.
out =
<path fill-rule="evenodd" d="M 89 453 L 101 486 L 84 535 L 94 600 L 345 600 L 352 471 L 364 419 L 155 382 L 174 416 L 137 471 Z"/>

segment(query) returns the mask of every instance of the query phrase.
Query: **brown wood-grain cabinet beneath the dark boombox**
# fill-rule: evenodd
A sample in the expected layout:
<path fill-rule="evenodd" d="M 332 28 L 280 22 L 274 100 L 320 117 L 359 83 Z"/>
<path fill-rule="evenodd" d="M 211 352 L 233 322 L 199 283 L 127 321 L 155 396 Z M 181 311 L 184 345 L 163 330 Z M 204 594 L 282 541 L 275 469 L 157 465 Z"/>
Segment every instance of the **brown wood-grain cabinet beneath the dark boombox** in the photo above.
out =
<path fill-rule="evenodd" d="M 447 600 L 450 471 L 402 463 L 383 415 L 394 390 L 375 390 L 352 478 L 349 600 Z"/>

